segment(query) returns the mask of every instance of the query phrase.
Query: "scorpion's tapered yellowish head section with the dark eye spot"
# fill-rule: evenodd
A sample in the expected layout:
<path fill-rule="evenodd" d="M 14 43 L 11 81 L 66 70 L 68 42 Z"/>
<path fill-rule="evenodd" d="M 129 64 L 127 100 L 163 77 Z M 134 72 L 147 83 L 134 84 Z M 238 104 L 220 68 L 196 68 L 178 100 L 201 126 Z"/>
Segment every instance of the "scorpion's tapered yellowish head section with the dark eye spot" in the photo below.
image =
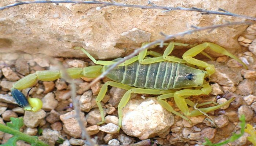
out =
<path fill-rule="evenodd" d="M 178 64 L 173 88 L 190 88 L 204 86 L 209 82 L 209 75 L 204 70 Z"/>

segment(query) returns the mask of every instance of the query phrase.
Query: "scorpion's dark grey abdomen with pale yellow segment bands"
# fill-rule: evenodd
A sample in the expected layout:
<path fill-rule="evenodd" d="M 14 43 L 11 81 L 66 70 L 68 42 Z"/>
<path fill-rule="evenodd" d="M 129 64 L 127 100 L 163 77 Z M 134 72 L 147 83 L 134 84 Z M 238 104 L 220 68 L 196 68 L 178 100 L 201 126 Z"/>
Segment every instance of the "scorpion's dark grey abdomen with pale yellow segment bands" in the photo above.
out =
<path fill-rule="evenodd" d="M 116 67 L 107 74 L 107 77 L 113 81 L 138 88 L 172 89 L 177 65 L 177 63 L 169 61 L 153 64 L 139 64 L 138 61 L 135 61 L 127 66 Z"/>

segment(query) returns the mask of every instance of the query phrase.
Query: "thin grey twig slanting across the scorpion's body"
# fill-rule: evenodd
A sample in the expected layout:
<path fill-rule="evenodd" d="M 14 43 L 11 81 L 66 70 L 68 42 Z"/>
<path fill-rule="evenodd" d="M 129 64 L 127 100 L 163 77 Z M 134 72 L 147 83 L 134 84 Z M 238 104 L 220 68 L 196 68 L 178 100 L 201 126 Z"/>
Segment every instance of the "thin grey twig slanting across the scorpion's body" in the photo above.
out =
<path fill-rule="evenodd" d="M 138 48 L 136 50 L 134 50 L 133 53 L 129 54 L 128 56 L 120 59 L 119 61 L 117 61 L 115 64 L 112 64 L 109 66 L 109 68 L 107 70 L 105 70 L 105 72 L 103 72 L 102 74 L 100 74 L 100 76 L 98 76 L 97 78 L 95 78 L 90 84 L 88 84 L 88 88 L 91 87 L 93 84 L 95 84 L 96 82 L 98 82 L 100 79 L 102 79 L 103 77 L 105 77 L 111 70 L 113 70 L 115 67 L 117 67 L 119 64 L 125 62 L 128 59 L 131 59 L 132 57 L 138 55 L 141 51 L 156 45 L 157 43 L 162 43 L 165 41 L 168 41 L 172 38 L 176 38 L 176 37 L 183 37 L 184 35 L 187 34 L 192 34 L 193 32 L 197 32 L 197 31 L 202 31 L 202 30 L 212 30 L 215 28 L 221 28 L 221 27 L 227 27 L 227 26 L 232 26 L 232 25 L 240 25 L 240 24 L 252 24 L 252 22 L 233 22 L 233 23 L 225 23 L 225 24 L 218 24 L 218 25 L 213 25 L 213 26 L 205 26 L 205 27 L 196 27 L 194 30 L 188 30 L 188 31 L 183 31 L 183 32 L 179 32 L 177 34 L 173 34 L 173 35 L 165 35 L 165 38 L 163 39 L 158 39 L 154 42 L 148 43 L 147 45 Z"/>

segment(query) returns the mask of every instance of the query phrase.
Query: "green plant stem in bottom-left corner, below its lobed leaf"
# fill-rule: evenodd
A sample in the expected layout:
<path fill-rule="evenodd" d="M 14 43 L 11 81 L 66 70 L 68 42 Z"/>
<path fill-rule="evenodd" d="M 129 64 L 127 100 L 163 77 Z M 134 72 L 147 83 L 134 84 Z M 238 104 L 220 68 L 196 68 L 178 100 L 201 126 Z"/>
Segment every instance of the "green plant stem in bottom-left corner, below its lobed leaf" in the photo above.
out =
<path fill-rule="evenodd" d="M 3 124 L 0 124 L 0 131 L 12 134 L 15 137 L 17 137 L 18 140 L 22 140 L 22 141 L 29 142 L 29 143 L 36 143 L 36 146 L 49 146 L 49 145 L 45 144 L 43 141 L 41 141 L 35 137 L 26 135 L 18 130 L 14 130 L 13 128 L 5 126 Z"/>

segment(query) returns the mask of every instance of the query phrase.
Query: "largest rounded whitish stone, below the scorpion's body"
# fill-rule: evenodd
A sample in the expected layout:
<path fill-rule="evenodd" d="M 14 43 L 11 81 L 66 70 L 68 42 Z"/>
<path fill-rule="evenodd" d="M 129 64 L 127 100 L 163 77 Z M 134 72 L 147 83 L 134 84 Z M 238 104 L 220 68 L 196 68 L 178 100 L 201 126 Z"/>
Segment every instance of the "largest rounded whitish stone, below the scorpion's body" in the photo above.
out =
<path fill-rule="evenodd" d="M 129 136 L 147 139 L 165 137 L 174 119 L 156 98 L 133 99 L 123 108 L 122 130 Z"/>

